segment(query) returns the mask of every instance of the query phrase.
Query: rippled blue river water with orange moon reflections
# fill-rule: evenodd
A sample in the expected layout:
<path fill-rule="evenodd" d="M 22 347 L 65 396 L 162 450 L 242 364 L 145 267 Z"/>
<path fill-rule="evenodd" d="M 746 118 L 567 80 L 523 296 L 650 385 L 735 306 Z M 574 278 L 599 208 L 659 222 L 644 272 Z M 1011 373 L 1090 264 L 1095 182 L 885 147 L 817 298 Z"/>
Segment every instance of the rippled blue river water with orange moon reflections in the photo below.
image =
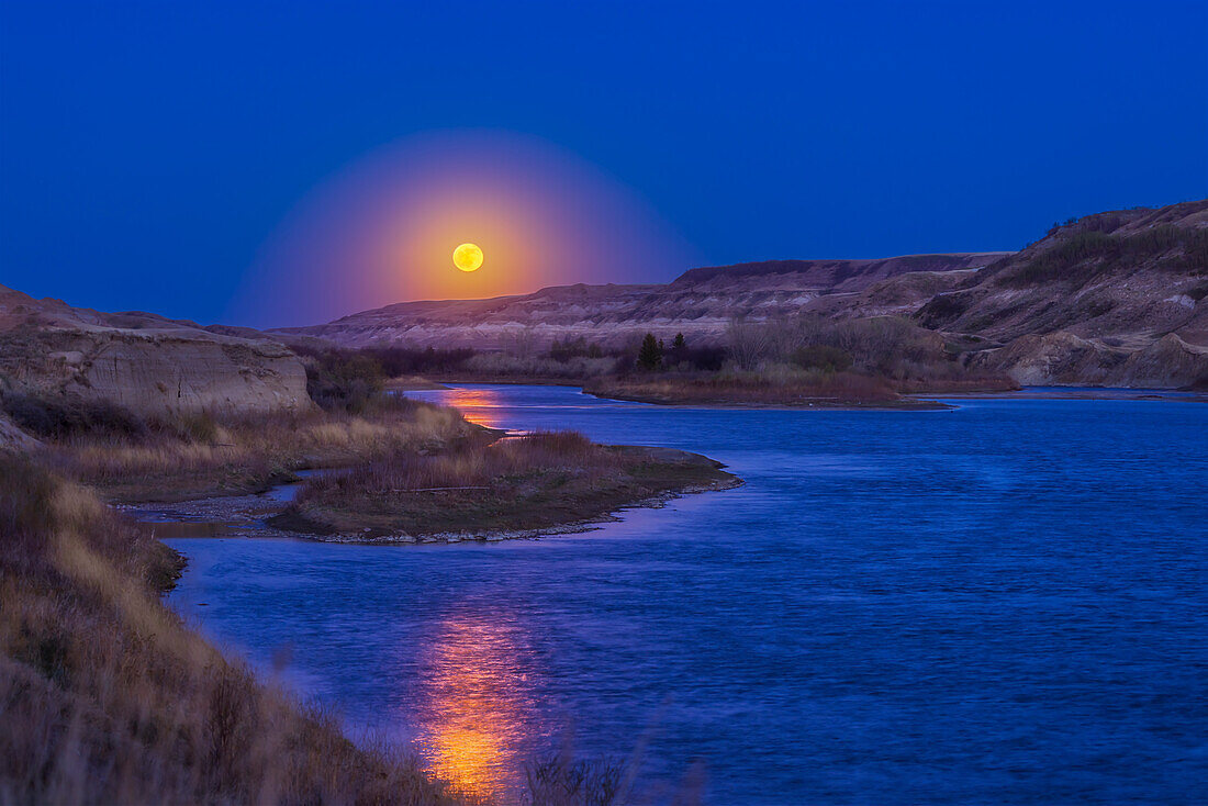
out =
<path fill-rule="evenodd" d="M 1203 796 L 1208 405 L 408 394 L 747 481 L 542 540 L 169 541 L 175 607 L 436 773 L 506 799 L 569 747 L 715 806 Z"/>

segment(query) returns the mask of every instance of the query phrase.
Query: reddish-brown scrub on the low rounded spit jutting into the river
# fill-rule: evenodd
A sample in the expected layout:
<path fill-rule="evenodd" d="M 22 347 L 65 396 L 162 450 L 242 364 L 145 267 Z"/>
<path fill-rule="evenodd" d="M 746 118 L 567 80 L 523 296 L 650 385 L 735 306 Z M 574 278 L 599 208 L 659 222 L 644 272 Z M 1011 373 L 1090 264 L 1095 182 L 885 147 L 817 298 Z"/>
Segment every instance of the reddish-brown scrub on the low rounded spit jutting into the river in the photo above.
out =
<path fill-rule="evenodd" d="M 308 479 L 275 521 L 316 534 L 420 537 L 540 530 L 591 521 L 643 499 L 737 483 L 720 464 L 667 448 L 596 445 L 574 431 L 400 452 Z"/>

